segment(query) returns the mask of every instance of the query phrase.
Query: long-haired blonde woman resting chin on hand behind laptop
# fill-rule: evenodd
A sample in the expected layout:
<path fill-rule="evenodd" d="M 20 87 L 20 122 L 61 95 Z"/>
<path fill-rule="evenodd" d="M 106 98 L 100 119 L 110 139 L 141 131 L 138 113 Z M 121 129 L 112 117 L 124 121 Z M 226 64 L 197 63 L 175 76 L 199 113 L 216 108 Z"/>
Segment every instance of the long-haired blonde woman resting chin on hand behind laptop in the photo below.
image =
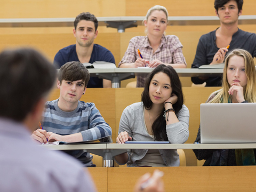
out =
<path fill-rule="evenodd" d="M 249 52 L 235 49 L 225 60 L 222 89 L 213 92 L 206 103 L 245 102 L 256 102 L 255 65 Z M 200 127 L 195 142 L 201 143 Z M 204 166 L 256 165 L 255 149 L 194 149 L 194 153 L 198 160 L 206 159 Z"/>

